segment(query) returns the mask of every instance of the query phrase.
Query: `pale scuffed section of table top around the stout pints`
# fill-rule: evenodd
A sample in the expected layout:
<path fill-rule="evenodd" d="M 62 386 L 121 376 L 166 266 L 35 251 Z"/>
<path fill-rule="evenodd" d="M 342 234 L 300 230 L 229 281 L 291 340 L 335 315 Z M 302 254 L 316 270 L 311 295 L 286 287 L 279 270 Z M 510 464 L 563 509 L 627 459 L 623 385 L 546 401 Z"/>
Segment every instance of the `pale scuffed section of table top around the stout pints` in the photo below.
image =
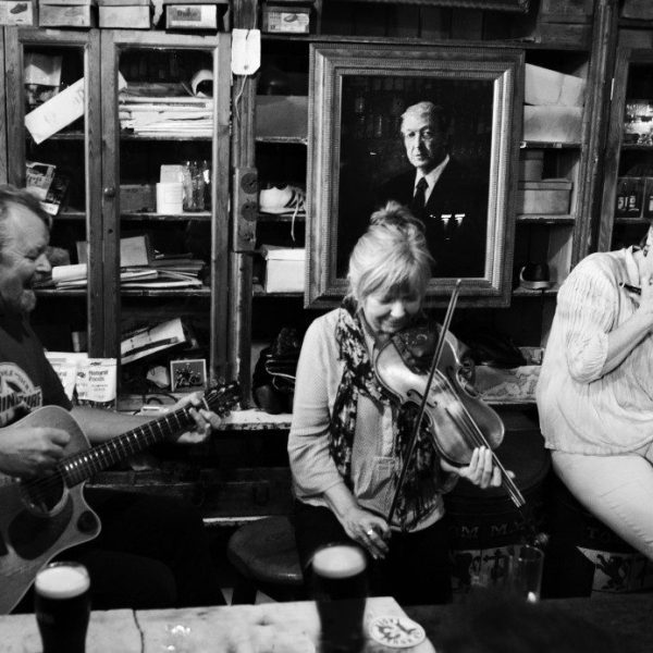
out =
<path fill-rule="evenodd" d="M 394 599 L 369 599 L 366 619 L 405 617 Z M 315 653 L 319 618 L 311 601 L 185 609 L 93 612 L 86 653 Z M 40 653 L 33 614 L 0 617 L 1 653 Z M 390 653 L 368 641 L 366 653 Z M 434 653 L 426 639 L 410 649 Z"/>

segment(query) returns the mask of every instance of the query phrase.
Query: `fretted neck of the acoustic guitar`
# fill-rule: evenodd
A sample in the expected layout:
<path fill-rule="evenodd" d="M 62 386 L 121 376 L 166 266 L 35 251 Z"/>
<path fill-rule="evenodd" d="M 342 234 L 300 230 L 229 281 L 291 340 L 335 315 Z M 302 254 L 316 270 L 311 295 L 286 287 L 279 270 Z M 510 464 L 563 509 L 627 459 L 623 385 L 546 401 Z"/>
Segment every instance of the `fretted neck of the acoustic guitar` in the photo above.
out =
<path fill-rule="evenodd" d="M 69 488 L 116 463 L 167 440 L 193 423 L 190 406 L 169 412 L 118 438 L 65 458 L 58 468 Z"/>

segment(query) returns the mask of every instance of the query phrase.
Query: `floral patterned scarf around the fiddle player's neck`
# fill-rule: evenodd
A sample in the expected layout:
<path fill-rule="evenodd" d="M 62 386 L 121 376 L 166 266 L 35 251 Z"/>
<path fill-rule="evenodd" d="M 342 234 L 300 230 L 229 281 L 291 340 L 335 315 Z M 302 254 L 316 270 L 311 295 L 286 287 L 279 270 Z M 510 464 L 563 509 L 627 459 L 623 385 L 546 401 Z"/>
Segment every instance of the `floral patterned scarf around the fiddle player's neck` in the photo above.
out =
<path fill-rule="evenodd" d="M 341 307 L 335 332 L 340 358 L 345 361 L 345 369 L 331 415 L 329 451 L 349 488 L 353 485 L 352 447 L 359 394 L 368 396 L 380 408 L 384 405 L 392 407 L 393 453 L 398 463 L 395 466 L 395 482 L 399 478 L 412 431 L 411 416 L 417 410 L 417 407 L 401 406 L 399 401 L 381 385 L 372 369 L 362 329 L 353 303 L 346 300 Z M 430 513 L 443 477 L 433 439 L 426 420 L 422 420 L 404 486 L 397 497 L 396 517 L 402 529 L 410 528 Z"/>

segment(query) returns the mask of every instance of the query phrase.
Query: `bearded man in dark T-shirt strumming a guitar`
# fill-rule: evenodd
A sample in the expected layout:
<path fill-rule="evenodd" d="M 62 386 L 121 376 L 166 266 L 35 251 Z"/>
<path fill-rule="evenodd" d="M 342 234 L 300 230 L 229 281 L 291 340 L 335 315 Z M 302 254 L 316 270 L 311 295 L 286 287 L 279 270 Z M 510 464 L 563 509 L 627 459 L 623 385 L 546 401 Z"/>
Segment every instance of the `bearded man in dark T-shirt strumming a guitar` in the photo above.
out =
<path fill-rule="evenodd" d="M 21 483 L 37 479 L 42 488 L 44 480 L 56 477 L 54 471 L 70 453 L 66 447 L 73 436 L 71 430 L 49 419 L 40 424 L 26 423 L 38 410 L 62 412 L 65 418 L 72 416 L 74 420 L 69 418 L 72 430 L 76 421 L 82 428 L 82 438 L 85 433 L 91 445 L 100 445 L 87 449 L 94 453 L 101 451 L 101 443 L 109 446 L 107 442 L 125 435 L 128 440 L 120 444 L 128 448 L 140 429 L 147 435 L 148 427 L 144 424 L 150 421 L 138 416 L 72 406 L 45 357 L 42 345 L 28 324 L 28 315 L 36 305 L 33 285 L 51 269 L 46 257 L 49 220 L 35 196 L 12 186 L 0 187 L 0 516 L 4 515 L 0 519 L 0 606 L 3 608 L 0 612 L 9 612 L 28 590 L 35 574 L 29 564 L 34 560 L 45 564 L 58 553 L 61 558 L 76 559 L 87 566 L 95 609 L 223 604 L 202 521 L 192 506 L 168 497 L 91 488 L 86 491 L 86 498 L 93 510 L 84 509 L 88 508 L 84 504 L 82 513 L 75 513 L 73 502 L 63 500 L 57 504 L 61 509 L 53 510 L 59 521 L 69 510 L 71 520 L 75 521 L 72 530 L 79 531 L 78 541 L 86 541 L 81 545 L 72 545 L 75 541 L 71 541 L 62 553 L 54 541 L 50 549 L 48 541 L 39 549 L 42 532 L 47 540 L 50 531 L 59 528 L 57 519 L 35 516 L 34 510 L 23 508 L 7 517 L 10 507 L 4 504 L 4 497 L 13 496 L 11 490 L 20 483 L 10 484 L 10 479 L 3 483 L 1 475 L 14 477 L 14 481 L 21 479 Z M 220 417 L 207 409 L 206 403 L 201 405 L 205 408 L 200 408 L 199 397 L 192 395 L 175 406 L 174 415 L 181 416 L 175 422 L 177 430 L 184 426 L 193 429 L 182 438 L 197 441 L 220 423 Z M 30 415 L 33 409 L 37 412 Z M 136 435 L 125 434 L 130 430 Z M 113 452 L 115 445 L 112 443 L 112 446 Z M 82 463 L 95 454 L 83 455 Z M 70 485 L 69 479 L 65 481 Z M 2 494 L 8 488 L 9 492 Z M 64 488 L 63 494 L 66 492 Z M 64 527 L 70 528 L 61 525 L 61 529 Z M 21 578 L 21 569 L 16 571 L 9 566 L 12 556 L 27 569 L 24 588 L 12 589 L 12 584 L 19 582 L 16 578 Z M 8 596 L 12 591 L 16 595 Z M 27 594 L 17 609 L 30 607 Z"/>

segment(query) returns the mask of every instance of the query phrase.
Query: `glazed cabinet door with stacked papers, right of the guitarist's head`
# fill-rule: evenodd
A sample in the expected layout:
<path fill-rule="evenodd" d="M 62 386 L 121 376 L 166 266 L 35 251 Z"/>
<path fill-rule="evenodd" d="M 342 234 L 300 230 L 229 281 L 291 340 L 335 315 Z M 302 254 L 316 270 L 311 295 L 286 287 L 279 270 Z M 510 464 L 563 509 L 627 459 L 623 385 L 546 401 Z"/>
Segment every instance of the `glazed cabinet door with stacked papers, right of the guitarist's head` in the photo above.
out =
<path fill-rule="evenodd" d="M 229 66 L 226 34 L 102 30 L 106 342 L 123 364 L 122 394 L 197 390 L 224 377 Z M 180 181 L 182 206 L 157 202 L 157 192 Z M 161 183 L 172 186 L 157 190 Z M 125 281 L 127 239 L 151 258 L 158 280 Z M 175 271 L 192 279 L 173 279 Z M 134 352 L 144 338 L 146 350 L 157 338 L 161 348 Z"/>

